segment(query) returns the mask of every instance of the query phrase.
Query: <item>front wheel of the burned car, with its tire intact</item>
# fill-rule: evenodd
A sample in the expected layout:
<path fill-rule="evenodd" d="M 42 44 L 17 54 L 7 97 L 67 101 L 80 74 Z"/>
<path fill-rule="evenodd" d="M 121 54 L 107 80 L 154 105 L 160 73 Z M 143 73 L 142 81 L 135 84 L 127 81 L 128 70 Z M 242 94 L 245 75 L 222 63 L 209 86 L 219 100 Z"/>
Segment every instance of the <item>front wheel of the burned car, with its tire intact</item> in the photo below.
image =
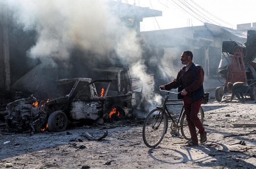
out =
<path fill-rule="evenodd" d="M 59 132 L 66 130 L 68 125 L 68 118 L 62 111 L 54 111 L 48 118 L 49 131 Z"/>

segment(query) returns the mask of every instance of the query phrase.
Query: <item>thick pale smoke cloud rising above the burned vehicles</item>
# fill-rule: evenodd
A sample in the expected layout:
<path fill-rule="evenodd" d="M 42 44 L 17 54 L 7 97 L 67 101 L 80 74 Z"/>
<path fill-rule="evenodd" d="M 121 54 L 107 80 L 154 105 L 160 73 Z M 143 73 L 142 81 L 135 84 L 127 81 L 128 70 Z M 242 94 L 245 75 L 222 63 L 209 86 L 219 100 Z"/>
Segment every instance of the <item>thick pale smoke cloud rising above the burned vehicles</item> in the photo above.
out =
<path fill-rule="evenodd" d="M 74 49 L 85 53 L 83 60 L 103 60 L 115 64 L 109 57 L 115 51 L 117 60 L 132 65 L 132 75 L 146 75 L 141 47 L 136 32 L 119 18 L 120 6 L 109 6 L 108 0 L 8 0 L 14 20 L 23 31 L 35 30 L 35 45 L 27 56 L 40 58 L 42 63 L 63 61 L 69 65 Z M 93 64 L 93 62 L 90 62 Z M 85 63 L 86 64 L 86 63 Z"/>

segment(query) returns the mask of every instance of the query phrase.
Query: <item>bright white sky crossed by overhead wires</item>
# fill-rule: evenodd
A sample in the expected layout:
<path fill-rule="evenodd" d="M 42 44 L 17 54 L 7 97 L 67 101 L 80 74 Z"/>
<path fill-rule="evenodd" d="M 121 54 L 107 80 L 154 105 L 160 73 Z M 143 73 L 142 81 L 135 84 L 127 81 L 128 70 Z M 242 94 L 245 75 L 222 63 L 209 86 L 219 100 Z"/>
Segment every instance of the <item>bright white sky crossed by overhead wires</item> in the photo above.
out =
<path fill-rule="evenodd" d="M 122 0 L 122 3 L 162 11 L 162 16 L 144 18 L 141 31 L 202 26 L 204 22 L 236 29 L 237 24 L 256 22 L 254 0 Z"/>

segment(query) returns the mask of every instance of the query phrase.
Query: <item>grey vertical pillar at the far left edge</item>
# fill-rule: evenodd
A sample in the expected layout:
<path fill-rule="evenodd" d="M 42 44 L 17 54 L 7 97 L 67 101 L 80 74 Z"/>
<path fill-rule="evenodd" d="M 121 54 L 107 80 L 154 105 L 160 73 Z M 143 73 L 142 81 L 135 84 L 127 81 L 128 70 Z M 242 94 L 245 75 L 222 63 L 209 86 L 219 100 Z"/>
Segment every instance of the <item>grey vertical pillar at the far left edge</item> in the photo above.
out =
<path fill-rule="evenodd" d="M 0 88 L 10 90 L 11 69 L 7 12 L 6 5 L 0 2 Z"/>

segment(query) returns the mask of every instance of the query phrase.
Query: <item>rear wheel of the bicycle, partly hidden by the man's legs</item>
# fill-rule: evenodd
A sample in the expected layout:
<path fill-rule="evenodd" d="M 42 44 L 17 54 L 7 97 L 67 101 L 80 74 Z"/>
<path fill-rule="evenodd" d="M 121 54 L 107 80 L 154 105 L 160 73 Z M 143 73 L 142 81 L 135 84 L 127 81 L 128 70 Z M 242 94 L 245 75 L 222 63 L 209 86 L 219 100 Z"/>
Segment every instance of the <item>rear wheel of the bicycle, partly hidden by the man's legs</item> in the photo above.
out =
<path fill-rule="evenodd" d="M 200 119 L 202 124 L 203 124 L 203 116 L 204 116 L 203 109 L 202 109 L 202 107 L 200 107 L 199 112 L 198 112 L 198 118 Z M 181 126 L 182 136 L 186 140 L 191 140 L 191 135 L 190 135 L 190 131 L 189 131 L 189 128 L 188 128 L 188 122 L 186 120 L 185 110 L 183 110 L 183 112 L 182 112 L 180 126 Z M 196 134 L 198 135 L 198 133 L 199 133 L 199 130 L 196 128 Z"/>

